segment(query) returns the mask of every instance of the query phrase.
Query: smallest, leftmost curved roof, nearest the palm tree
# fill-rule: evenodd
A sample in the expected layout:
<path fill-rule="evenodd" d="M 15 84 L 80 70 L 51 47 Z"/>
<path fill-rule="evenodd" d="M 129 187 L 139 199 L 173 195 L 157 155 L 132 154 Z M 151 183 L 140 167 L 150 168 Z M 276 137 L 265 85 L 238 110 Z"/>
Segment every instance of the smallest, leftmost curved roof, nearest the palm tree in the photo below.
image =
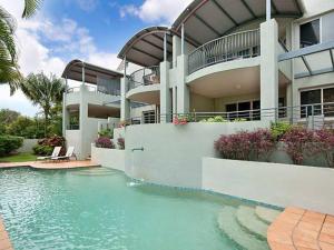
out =
<path fill-rule="evenodd" d="M 70 80 L 76 80 L 76 81 L 82 81 L 82 68 L 85 66 L 85 82 L 91 83 L 91 84 L 97 84 L 97 76 L 102 76 L 106 78 L 122 78 L 122 73 L 114 71 L 114 70 L 108 70 L 99 66 L 94 66 L 88 62 L 80 61 L 78 59 L 70 61 L 61 77 L 67 78 Z"/>

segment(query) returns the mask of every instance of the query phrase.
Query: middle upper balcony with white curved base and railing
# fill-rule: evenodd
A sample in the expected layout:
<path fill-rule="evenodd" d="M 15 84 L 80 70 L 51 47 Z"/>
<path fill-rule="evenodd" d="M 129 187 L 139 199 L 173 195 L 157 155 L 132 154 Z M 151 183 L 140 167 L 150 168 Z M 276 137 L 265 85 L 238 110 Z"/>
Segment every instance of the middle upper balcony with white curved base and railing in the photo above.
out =
<path fill-rule="evenodd" d="M 132 72 L 128 79 L 127 98 L 149 104 L 159 103 L 160 68 L 147 67 Z"/>

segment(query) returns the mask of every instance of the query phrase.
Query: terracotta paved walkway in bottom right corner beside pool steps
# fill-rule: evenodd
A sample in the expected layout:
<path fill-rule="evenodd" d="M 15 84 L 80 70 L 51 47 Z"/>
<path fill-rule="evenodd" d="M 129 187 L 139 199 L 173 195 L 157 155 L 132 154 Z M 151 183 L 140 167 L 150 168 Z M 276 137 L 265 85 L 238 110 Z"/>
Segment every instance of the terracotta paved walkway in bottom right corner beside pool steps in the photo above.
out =
<path fill-rule="evenodd" d="M 334 216 L 286 208 L 267 231 L 272 250 L 334 250 Z"/>

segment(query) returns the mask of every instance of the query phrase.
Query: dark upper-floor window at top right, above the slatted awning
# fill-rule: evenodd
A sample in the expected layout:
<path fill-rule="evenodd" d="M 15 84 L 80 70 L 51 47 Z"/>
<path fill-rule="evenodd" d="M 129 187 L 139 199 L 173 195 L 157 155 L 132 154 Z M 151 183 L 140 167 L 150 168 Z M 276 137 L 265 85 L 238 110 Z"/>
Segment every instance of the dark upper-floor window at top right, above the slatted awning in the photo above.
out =
<path fill-rule="evenodd" d="M 314 46 L 320 42 L 320 19 L 301 26 L 301 48 Z"/>

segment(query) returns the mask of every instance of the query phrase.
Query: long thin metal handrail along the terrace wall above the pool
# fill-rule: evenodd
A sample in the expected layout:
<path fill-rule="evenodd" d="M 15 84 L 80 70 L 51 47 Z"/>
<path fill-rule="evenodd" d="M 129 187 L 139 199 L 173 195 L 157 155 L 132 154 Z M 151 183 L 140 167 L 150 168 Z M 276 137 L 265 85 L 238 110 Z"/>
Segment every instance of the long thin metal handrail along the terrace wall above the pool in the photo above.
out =
<path fill-rule="evenodd" d="M 173 122 L 176 118 L 187 122 L 242 122 L 274 119 L 291 124 L 306 126 L 311 129 L 334 128 L 334 102 L 323 102 L 303 106 L 289 106 L 272 109 L 250 109 L 233 112 L 188 112 L 151 114 L 149 117 L 132 117 L 126 124 Z"/>

